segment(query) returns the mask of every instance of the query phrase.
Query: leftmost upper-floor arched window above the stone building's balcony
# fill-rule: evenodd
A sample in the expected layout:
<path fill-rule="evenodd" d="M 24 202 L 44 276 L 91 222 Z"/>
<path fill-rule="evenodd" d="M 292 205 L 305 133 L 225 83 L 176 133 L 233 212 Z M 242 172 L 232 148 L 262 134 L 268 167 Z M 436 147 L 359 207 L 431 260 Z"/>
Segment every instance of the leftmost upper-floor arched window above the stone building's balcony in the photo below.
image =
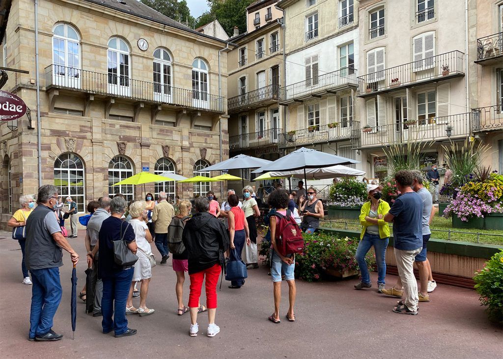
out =
<path fill-rule="evenodd" d="M 57 24 L 52 33 L 53 81 L 62 86 L 78 87 L 80 37 L 68 24 Z"/>

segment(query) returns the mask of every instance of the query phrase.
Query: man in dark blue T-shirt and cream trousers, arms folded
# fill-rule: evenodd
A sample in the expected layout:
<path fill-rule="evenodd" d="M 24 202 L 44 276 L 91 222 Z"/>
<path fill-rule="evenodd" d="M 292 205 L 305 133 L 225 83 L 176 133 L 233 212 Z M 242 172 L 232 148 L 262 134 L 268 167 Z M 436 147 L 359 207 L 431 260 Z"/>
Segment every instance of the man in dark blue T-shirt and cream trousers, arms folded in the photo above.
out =
<path fill-rule="evenodd" d="M 403 284 L 402 301 L 393 308 L 393 312 L 416 315 L 419 298 L 413 264 L 423 247 L 423 200 L 411 188 L 413 175 L 410 171 L 396 172 L 395 181 L 401 196 L 384 216 L 386 222 L 393 222 L 396 266 Z"/>

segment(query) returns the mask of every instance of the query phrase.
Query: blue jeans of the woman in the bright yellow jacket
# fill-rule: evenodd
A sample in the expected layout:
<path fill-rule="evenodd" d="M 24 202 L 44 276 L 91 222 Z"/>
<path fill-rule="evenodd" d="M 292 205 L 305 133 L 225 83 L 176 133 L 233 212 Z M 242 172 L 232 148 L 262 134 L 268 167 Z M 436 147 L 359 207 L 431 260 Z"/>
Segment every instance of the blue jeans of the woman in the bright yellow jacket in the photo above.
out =
<path fill-rule="evenodd" d="M 385 284 L 384 278 L 386 277 L 386 248 L 388 246 L 389 237 L 380 238 L 377 234 L 365 233 L 362 240 L 358 244 L 356 250 L 356 260 L 362 272 L 362 282 L 370 283 L 369 268 L 365 261 L 365 255 L 374 246 L 376 252 L 377 262 L 377 284 Z"/>

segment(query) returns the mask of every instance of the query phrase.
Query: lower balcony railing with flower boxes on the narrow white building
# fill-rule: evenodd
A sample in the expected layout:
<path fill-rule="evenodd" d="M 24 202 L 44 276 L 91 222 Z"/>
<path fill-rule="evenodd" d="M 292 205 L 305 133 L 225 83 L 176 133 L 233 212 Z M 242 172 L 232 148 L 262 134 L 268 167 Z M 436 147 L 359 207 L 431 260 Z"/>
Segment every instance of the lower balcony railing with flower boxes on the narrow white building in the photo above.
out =
<path fill-rule="evenodd" d="M 330 125 L 310 126 L 281 134 L 280 147 L 349 140 L 360 137 L 360 122 L 347 120 Z"/>

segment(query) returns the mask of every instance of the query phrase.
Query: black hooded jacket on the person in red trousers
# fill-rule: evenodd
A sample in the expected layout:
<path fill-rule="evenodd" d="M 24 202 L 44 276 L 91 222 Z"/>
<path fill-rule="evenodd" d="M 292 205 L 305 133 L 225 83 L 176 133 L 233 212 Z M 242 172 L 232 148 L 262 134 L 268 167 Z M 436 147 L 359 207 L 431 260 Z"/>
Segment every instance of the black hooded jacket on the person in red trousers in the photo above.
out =
<path fill-rule="evenodd" d="M 223 252 L 229 247 L 229 236 L 223 222 L 208 212 L 197 213 L 185 225 L 182 241 L 187 248 L 189 274 L 219 263 L 225 264 Z"/>

